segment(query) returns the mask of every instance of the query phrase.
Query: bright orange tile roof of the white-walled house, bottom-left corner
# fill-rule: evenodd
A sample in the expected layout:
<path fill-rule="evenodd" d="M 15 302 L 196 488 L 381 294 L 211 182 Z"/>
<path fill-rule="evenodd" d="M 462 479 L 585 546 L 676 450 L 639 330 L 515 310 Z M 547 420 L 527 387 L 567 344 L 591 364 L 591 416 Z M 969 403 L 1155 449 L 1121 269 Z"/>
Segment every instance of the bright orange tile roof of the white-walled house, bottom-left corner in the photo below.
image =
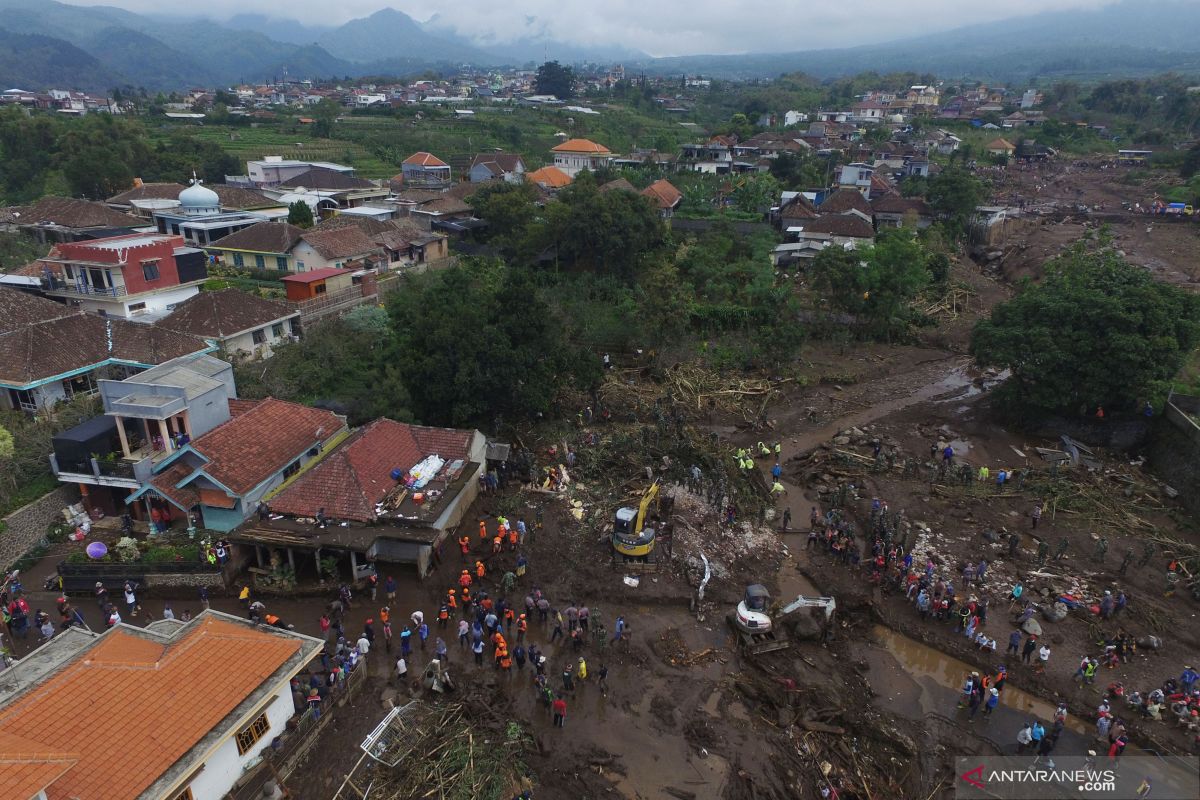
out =
<path fill-rule="evenodd" d="M 197 620 L 166 644 L 116 627 L 0 710 L 0 729 L 79 753 L 78 764 L 47 789 L 50 800 L 136 798 L 300 646 L 298 639 L 216 616 Z M 7 750 L 2 741 L 0 750 Z M 4 790 L 8 772 L 0 760 L 0 795 L 31 796 Z"/>

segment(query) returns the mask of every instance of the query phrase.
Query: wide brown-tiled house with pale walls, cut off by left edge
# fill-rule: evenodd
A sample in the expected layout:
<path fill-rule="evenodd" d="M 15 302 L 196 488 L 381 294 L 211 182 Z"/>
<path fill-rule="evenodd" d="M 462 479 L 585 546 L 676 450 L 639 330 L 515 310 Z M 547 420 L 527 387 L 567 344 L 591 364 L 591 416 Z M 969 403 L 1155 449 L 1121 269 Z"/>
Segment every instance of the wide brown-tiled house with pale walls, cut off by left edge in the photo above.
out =
<path fill-rule="evenodd" d="M 102 319 L 0 288 L 0 409 L 37 413 L 102 378 L 125 377 L 212 350 L 204 339 L 158 325 Z"/>

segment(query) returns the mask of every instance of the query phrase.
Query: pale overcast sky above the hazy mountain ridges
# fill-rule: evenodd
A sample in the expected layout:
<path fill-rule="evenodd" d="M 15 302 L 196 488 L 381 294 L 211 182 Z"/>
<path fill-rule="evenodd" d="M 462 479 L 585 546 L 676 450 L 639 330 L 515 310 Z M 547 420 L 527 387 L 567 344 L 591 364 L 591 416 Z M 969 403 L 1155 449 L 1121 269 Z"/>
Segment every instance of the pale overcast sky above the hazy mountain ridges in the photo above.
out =
<path fill-rule="evenodd" d="M 66 0 L 130 11 L 175 11 L 162 0 Z M 257 12 L 340 25 L 394 7 L 414 19 L 434 13 L 460 32 L 511 41 L 545 30 L 581 44 L 622 43 L 652 55 L 846 47 L 1042 11 L 1096 8 L 1115 0 L 205 0 L 197 14 Z M 191 8 L 188 11 L 192 11 Z"/>

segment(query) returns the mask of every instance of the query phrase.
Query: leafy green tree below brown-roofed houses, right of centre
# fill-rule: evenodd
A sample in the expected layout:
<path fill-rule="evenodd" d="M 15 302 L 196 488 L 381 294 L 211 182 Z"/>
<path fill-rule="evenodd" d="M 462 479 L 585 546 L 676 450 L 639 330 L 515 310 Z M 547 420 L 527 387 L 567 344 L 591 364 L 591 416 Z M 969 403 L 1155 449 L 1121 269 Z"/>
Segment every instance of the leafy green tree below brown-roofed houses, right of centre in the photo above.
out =
<path fill-rule="evenodd" d="M 912 230 L 880 233 L 874 247 L 827 247 L 812 259 L 814 288 L 868 336 L 902 337 L 916 314 L 912 301 L 930 282 L 928 254 Z"/>

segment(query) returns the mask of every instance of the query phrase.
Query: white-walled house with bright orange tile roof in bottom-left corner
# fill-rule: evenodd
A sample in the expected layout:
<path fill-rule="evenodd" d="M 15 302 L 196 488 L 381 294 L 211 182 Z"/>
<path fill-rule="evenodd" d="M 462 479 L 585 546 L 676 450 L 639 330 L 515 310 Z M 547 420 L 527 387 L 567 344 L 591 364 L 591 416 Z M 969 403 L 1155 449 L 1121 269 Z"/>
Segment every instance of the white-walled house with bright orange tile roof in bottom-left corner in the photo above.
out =
<path fill-rule="evenodd" d="M 292 680 L 323 646 L 215 610 L 71 627 L 4 672 L 4 796 L 221 800 L 294 735 Z"/>

